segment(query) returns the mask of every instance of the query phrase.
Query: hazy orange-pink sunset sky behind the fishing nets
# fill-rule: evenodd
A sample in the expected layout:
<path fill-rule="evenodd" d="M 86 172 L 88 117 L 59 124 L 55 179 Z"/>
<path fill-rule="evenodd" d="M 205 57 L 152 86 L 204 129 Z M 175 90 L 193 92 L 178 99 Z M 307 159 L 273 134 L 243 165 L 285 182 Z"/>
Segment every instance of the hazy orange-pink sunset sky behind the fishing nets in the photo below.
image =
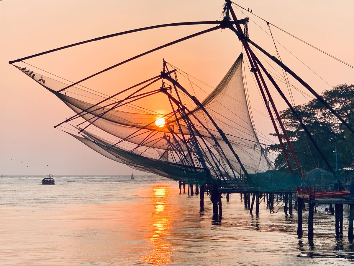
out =
<path fill-rule="evenodd" d="M 253 13 L 334 56 L 354 64 L 353 1 L 238 1 Z M 29 80 L 9 60 L 37 52 L 155 24 L 218 20 L 223 1 L 0 1 L 1 33 L 1 152 L 3 174 L 129 174 L 130 168 L 110 161 L 53 126 L 72 112 L 55 96 Z M 249 36 L 275 54 L 265 22 L 235 8 L 238 18 L 249 16 Z M 161 44 L 201 31 L 208 26 L 155 29 L 30 59 L 39 68 L 77 81 L 103 68 Z M 264 31 L 263 31 L 263 30 Z M 334 86 L 353 82 L 354 70 L 272 28 L 274 38 Z M 317 92 L 330 86 L 281 45 L 282 60 Z M 156 76 L 162 58 L 213 86 L 221 80 L 241 52 L 241 43 L 228 29 L 208 33 L 115 68 L 83 85 L 113 94 L 119 89 Z M 246 67 L 247 71 L 247 67 Z M 252 107 L 264 112 L 248 71 Z M 291 80 L 292 82 L 292 80 Z M 293 82 L 296 86 L 299 86 Z M 283 87 L 284 88 L 284 87 Z M 211 90 L 211 89 L 210 89 Z M 286 90 L 286 89 L 285 89 Z M 307 101 L 295 90 L 297 104 Z M 277 96 L 279 110 L 285 105 Z M 159 110 L 158 101 L 149 101 Z M 273 132 L 270 122 L 253 113 L 258 131 Z M 82 159 L 81 159 L 82 157 Z M 12 161 L 11 161 L 12 159 Z M 22 161 L 22 163 L 20 163 Z M 48 165 L 48 167 L 46 166 Z M 27 167 L 29 166 L 29 167 Z"/>

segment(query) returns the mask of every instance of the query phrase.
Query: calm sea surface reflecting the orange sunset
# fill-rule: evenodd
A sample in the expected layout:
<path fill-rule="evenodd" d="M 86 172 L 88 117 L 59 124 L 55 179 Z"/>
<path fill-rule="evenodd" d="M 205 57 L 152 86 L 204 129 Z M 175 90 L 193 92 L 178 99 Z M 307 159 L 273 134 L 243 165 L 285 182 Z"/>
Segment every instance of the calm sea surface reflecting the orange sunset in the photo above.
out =
<path fill-rule="evenodd" d="M 213 220 L 206 194 L 201 211 L 199 196 L 179 195 L 166 178 L 55 176 L 56 185 L 41 185 L 43 177 L 0 177 L 0 265 L 354 264 L 327 206 L 317 208 L 309 245 L 306 213 L 298 239 L 295 212 L 270 214 L 262 203 L 250 215 L 239 194 L 224 197 Z"/>

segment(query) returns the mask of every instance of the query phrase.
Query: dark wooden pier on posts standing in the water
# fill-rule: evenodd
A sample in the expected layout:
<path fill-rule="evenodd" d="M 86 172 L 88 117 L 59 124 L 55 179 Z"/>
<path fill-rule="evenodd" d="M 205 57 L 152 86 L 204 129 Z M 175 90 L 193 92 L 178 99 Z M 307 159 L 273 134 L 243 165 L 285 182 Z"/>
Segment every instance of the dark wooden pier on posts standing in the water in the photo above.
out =
<path fill-rule="evenodd" d="M 179 192 L 181 194 L 182 185 L 185 187 L 187 183 L 179 182 Z M 190 195 L 193 194 L 193 184 L 187 184 L 188 188 L 191 188 Z M 256 215 L 259 215 L 259 204 L 263 201 L 267 204 L 267 209 L 271 213 L 278 213 L 283 208 L 284 214 L 292 215 L 293 208 L 297 210 L 297 235 L 299 238 L 303 237 L 303 212 L 308 211 L 308 230 L 307 237 L 309 242 L 314 240 L 314 213 L 315 207 L 319 205 L 329 205 L 327 211 L 329 215 L 335 215 L 335 232 L 336 238 L 343 236 L 343 205 L 349 206 L 349 225 L 348 225 L 348 239 L 350 243 L 353 243 L 353 221 L 354 221 L 354 198 L 349 196 L 327 197 L 327 198 L 314 198 L 313 195 L 299 194 L 296 190 L 290 191 L 273 191 L 267 193 L 261 193 L 254 190 L 251 187 L 218 187 L 216 184 L 203 184 L 202 186 L 195 185 L 195 194 L 200 197 L 200 207 L 204 210 L 204 193 L 210 194 L 210 200 L 213 203 L 213 218 L 221 218 L 222 216 L 222 195 L 226 195 L 226 201 L 230 201 L 230 194 L 240 194 L 240 199 L 244 201 L 244 206 L 249 213 L 253 211 Z M 198 191 L 198 193 L 197 193 Z M 188 189 L 189 192 L 189 189 Z M 189 193 L 188 193 L 189 195 Z M 295 197 L 295 202 L 293 201 Z M 274 205 L 274 200 L 277 204 Z M 308 204 L 307 208 L 305 203 Z M 279 206 L 280 205 L 280 206 Z M 279 207 L 278 207 L 279 206 Z M 333 207 L 334 206 L 334 207 Z"/>

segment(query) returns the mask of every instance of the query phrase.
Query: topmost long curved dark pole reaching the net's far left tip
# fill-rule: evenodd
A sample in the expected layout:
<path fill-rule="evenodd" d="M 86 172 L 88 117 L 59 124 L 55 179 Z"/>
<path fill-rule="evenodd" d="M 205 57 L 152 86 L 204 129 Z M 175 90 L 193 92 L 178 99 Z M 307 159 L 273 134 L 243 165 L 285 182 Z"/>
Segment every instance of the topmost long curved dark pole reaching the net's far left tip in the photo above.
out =
<path fill-rule="evenodd" d="M 51 49 L 45 52 L 40 52 L 38 54 L 34 54 L 34 55 L 30 55 L 30 56 L 26 56 L 23 58 L 19 58 L 17 60 L 13 60 L 13 61 L 9 61 L 8 63 L 11 65 L 12 63 L 16 63 L 19 61 L 23 61 L 26 59 L 30 59 L 36 56 L 40 56 L 40 55 L 45 55 L 45 54 L 49 54 L 50 52 L 55 52 L 55 51 L 59 51 L 59 50 L 63 50 L 66 48 L 70 48 L 73 46 L 77 46 L 80 44 L 85 44 L 85 43 L 90 43 L 92 41 L 97 41 L 97 40 L 103 40 L 103 39 L 107 39 L 107 38 L 111 38 L 111 37 L 115 37 L 115 36 L 119 36 L 119 35 L 124 35 L 124 34 L 129 34 L 129 33 L 133 33 L 133 32 L 139 32 L 139 31 L 145 31 L 148 29 L 156 29 L 156 28 L 163 28 L 163 27 L 170 27 L 170 26 L 186 26 L 186 25 L 205 25 L 205 24 L 221 24 L 222 21 L 195 21 L 195 22 L 177 22 L 177 23 L 169 23 L 169 24 L 160 24 L 160 25 L 156 25 L 156 26 L 149 26 L 149 27 L 144 27 L 144 28 L 138 28 L 138 29 L 132 29 L 129 31 L 124 31 L 124 32 L 118 32 L 118 33 L 114 33 L 114 34 L 109 34 L 109 35 L 105 35 L 102 37 L 97 37 L 94 39 L 90 39 L 90 40 L 85 40 L 85 41 L 80 41 L 78 43 L 74 43 L 74 44 L 69 44 L 69 45 L 65 45 L 59 48 L 55 48 L 55 49 Z M 231 24 L 237 23 L 237 22 L 231 22 Z"/>

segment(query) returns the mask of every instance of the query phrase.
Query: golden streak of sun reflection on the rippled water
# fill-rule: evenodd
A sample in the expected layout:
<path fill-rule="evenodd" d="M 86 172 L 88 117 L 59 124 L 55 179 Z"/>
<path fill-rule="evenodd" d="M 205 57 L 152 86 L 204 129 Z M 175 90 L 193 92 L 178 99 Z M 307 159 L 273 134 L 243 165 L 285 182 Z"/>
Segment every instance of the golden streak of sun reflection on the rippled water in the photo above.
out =
<path fill-rule="evenodd" d="M 152 232 L 148 241 L 153 246 L 153 250 L 147 256 L 142 256 L 143 262 L 154 265 L 166 265 L 171 261 L 172 244 L 165 241 L 171 229 L 173 211 L 169 210 L 166 203 L 169 200 L 167 188 L 155 188 L 153 190 L 152 201 L 154 204 Z"/>

